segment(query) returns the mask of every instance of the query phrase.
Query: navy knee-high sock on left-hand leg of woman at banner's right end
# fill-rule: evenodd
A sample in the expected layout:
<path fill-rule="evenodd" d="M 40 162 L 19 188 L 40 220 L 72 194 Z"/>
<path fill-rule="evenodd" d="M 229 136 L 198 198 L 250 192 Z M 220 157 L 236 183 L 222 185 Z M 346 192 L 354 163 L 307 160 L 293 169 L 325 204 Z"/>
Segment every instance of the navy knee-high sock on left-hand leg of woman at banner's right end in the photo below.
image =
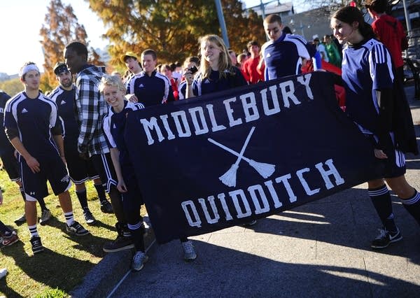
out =
<path fill-rule="evenodd" d="M 389 194 L 388 187 L 382 185 L 381 187 L 369 189 L 367 192 L 381 219 L 382 225 L 388 232 L 397 232 L 398 228 L 393 220 L 391 194 Z"/>

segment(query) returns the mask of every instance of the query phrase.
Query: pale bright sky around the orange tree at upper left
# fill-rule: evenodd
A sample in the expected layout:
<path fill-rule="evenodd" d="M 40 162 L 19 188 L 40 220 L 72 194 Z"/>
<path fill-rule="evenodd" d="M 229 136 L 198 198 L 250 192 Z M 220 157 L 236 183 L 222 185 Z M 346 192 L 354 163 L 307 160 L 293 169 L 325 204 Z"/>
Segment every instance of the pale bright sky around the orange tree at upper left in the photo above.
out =
<path fill-rule="evenodd" d="M 101 0 L 98 0 L 101 1 Z M 263 0 L 264 3 L 269 0 Z M 291 0 L 283 0 L 288 2 Z M 243 1 L 246 7 L 260 4 L 260 0 Z M 12 75 L 19 72 L 25 62 L 35 62 L 40 69 L 44 62 L 39 31 L 44 22 L 50 0 L 0 0 L 0 73 Z M 79 24 L 85 26 L 90 46 L 103 49 L 107 41 L 102 20 L 89 8 L 84 0 L 62 0 L 71 3 Z M 298 7 L 295 7 L 297 12 Z"/>

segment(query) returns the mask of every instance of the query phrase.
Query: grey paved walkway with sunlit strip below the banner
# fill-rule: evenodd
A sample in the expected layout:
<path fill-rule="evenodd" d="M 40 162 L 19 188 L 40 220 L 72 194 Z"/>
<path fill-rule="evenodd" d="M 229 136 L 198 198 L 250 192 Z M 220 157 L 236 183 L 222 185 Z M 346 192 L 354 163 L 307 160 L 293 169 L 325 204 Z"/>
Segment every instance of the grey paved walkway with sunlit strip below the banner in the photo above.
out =
<path fill-rule="evenodd" d="M 409 97 L 413 87 L 407 87 Z M 420 136 L 420 101 L 412 101 Z M 407 156 L 407 180 L 420 190 L 420 159 Z M 148 251 L 129 271 L 130 252 L 109 254 L 73 297 L 419 297 L 420 229 L 393 197 L 404 239 L 385 250 L 370 241 L 380 227 L 358 185 L 292 211 L 192 237 L 198 254 L 184 262 L 179 241 Z"/>

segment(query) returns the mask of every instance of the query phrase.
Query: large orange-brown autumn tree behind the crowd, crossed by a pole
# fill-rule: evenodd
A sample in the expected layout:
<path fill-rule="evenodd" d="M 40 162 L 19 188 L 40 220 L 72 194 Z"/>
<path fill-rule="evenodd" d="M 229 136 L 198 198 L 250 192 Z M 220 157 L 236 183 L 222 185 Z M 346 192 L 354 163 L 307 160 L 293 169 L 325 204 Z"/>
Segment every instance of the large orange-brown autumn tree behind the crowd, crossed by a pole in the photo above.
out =
<path fill-rule="evenodd" d="M 158 52 L 161 62 L 182 61 L 197 55 L 200 36 L 221 35 L 214 1 L 85 1 L 108 28 L 104 37 L 111 41 L 109 52 L 114 65 L 121 65 L 119 57 L 124 52 L 139 55 L 146 48 Z M 261 39 L 259 35 L 264 38 L 262 20 L 255 13 L 245 17 L 241 1 L 222 3 L 232 47 L 241 49 L 250 39 Z"/>

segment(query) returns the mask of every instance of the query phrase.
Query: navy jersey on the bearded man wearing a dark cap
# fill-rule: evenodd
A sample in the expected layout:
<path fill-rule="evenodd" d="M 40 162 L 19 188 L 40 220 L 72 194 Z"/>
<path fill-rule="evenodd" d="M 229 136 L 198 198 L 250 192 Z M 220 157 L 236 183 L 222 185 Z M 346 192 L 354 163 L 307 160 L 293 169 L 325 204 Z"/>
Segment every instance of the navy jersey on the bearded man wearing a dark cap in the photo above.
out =
<path fill-rule="evenodd" d="M 75 92 L 76 88 L 74 85 L 71 90 L 64 90 L 61 86 L 58 86 L 48 96 L 57 105 L 59 121 L 63 128 L 64 142 L 66 142 L 66 139 L 77 142 L 79 134 L 78 122 L 74 115 Z"/>

